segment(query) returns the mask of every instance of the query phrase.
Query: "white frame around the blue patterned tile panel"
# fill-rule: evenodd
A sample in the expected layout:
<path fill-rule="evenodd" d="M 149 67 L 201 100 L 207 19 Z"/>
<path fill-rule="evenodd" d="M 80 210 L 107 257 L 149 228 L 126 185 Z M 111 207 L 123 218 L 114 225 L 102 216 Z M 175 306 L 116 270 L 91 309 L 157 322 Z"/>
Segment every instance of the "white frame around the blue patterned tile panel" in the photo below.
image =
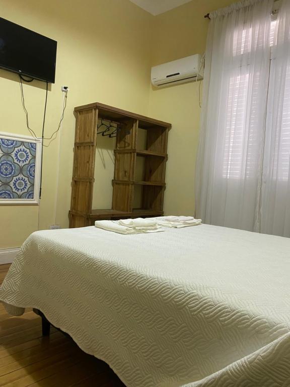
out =
<path fill-rule="evenodd" d="M 35 177 L 34 177 L 34 195 L 33 199 L 0 199 L 0 205 L 39 205 L 39 189 L 40 189 L 40 174 L 41 174 L 41 153 L 42 139 L 32 136 L 15 135 L 12 133 L 0 132 L 0 138 L 15 141 L 25 141 L 36 144 L 35 155 Z"/>

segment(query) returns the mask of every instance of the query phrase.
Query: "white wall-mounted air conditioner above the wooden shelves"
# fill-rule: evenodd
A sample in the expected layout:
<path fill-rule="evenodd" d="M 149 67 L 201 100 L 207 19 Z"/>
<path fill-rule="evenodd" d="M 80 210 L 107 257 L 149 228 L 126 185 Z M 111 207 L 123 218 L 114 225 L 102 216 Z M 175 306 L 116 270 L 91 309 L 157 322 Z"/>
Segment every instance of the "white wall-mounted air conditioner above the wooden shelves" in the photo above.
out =
<path fill-rule="evenodd" d="M 176 85 L 203 78 L 201 55 L 190 55 L 151 69 L 151 82 L 156 87 Z"/>

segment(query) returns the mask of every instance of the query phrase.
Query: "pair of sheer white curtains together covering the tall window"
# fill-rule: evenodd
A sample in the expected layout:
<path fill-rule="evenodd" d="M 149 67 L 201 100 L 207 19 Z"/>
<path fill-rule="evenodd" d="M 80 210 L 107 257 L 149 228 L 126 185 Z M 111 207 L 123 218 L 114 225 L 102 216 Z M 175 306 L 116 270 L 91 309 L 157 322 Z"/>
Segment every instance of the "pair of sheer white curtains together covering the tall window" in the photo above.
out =
<path fill-rule="evenodd" d="M 274 22 L 273 3 L 245 0 L 210 14 L 196 216 L 290 236 L 290 0 Z"/>

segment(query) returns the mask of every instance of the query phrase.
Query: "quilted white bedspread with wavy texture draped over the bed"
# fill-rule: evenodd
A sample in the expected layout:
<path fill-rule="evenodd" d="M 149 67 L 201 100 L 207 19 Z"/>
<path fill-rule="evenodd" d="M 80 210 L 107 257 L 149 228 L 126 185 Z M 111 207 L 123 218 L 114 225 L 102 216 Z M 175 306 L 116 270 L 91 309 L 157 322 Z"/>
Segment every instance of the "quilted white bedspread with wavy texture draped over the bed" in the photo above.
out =
<path fill-rule="evenodd" d="M 128 387 L 290 386 L 290 239 L 201 225 L 39 231 L 1 289 Z"/>

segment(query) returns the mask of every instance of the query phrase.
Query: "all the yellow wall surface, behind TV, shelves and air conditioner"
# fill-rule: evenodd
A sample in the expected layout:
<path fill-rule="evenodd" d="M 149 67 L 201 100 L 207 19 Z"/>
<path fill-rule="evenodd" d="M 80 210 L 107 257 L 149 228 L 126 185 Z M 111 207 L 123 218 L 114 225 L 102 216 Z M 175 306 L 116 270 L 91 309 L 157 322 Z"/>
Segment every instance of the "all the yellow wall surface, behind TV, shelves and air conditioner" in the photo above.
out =
<path fill-rule="evenodd" d="M 0 207 L 0 248 L 17 247 L 33 231 L 55 223 L 57 166 L 60 166 L 56 223 L 68 226 L 73 166 L 75 106 L 99 101 L 168 122 L 169 161 L 165 212 L 194 212 L 194 163 L 198 140 L 198 83 L 153 89 L 150 69 L 155 64 L 205 50 L 208 20 L 203 15 L 232 0 L 192 0 L 153 17 L 129 0 L 0 0 L 1 17 L 58 41 L 56 82 L 48 95 L 46 135 L 57 127 L 61 85 L 69 86 L 59 137 L 44 148 L 42 199 L 39 207 Z M 24 85 L 30 124 L 41 134 L 45 84 Z M 0 70 L 0 118 L 3 132 L 26 134 L 18 77 Z M 111 141 L 111 142 L 110 142 Z M 46 142 L 46 144 L 48 144 Z M 94 204 L 111 203 L 113 140 L 99 140 Z M 103 158 L 103 161 L 102 161 Z M 105 165 L 105 166 L 104 166 Z"/>

